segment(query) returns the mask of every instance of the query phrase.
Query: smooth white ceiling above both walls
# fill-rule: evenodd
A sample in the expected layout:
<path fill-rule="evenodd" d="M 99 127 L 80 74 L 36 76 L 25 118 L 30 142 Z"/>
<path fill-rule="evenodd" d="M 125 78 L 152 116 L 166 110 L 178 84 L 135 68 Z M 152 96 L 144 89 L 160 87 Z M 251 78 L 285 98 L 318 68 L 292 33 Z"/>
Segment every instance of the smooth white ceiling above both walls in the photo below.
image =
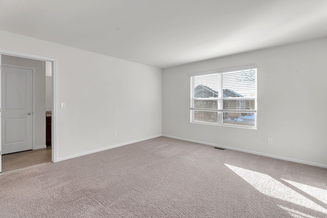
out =
<path fill-rule="evenodd" d="M 0 0 L 0 30 L 167 68 L 327 36 L 327 0 Z"/>

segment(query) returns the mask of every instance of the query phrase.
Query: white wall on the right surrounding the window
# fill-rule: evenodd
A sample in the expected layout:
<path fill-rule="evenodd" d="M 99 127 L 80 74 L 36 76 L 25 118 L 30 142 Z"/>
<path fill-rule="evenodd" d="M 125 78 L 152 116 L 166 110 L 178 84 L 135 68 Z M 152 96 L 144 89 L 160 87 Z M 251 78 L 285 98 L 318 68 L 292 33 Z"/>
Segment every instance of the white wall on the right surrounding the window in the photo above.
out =
<path fill-rule="evenodd" d="M 257 130 L 190 123 L 189 73 L 253 64 Z M 164 69 L 162 134 L 327 167 L 326 69 L 327 38 Z"/>

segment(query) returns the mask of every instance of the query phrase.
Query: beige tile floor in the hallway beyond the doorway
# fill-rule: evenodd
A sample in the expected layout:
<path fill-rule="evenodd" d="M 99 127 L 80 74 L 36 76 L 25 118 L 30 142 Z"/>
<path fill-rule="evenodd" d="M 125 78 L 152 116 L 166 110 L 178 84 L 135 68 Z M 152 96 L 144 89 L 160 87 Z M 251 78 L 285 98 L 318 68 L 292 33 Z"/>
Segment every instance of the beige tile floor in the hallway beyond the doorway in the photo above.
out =
<path fill-rule="evenodd" d="M 51 146 L 2 155 L 2 173 L 51 162 Z"/>

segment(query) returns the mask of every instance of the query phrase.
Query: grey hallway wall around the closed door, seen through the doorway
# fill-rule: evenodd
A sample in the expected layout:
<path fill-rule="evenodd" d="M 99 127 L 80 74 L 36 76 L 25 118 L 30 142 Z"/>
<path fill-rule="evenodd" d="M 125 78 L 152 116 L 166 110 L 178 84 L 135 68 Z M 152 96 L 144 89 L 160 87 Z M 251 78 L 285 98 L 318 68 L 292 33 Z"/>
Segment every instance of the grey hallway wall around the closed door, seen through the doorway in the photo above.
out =
<path fill-rule="evenodd" d="M 45 147 L 45 62 L 12 56 L 2 56 L 2 63 L 36 68 L 35 96 L 35 146 L 33 149 Z"/>

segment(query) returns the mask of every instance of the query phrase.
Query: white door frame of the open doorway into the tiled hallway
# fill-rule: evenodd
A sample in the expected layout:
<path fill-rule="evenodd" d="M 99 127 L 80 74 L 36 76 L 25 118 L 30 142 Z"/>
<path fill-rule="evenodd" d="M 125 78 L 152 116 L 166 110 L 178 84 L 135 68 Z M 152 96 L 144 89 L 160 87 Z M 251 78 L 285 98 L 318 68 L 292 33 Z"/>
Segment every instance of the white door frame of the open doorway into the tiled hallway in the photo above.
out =
<path fill-rule="evenodd" d="M 1 55 L 8 55 L 8 56 L 15 56 L 15 57 L 19 57 L 19 58 L 27 58 L 27 59 L 34 59 L 34 60 L 38 60 L 38 61 L 52 62 L 52 118 L 51 118 L 52 119 L 52 127 L 51 127 L 52 158 L 51 159 L 52 159 L 52 162 L 57 162 L 58 161 L 58 158 L 57 158 L 57 59 L 45 57 L 45 56 L 33 55 L 30 53 L 0 49 L 0 64 L 1 64 Z M 1 72 L 1 69 L 0 69 L 0 72 Z M 0 87 L 1 87 L 1 84 L 0 84 Z M 0 100 L 1 100 L 1 89 L 0 89 Z M 1 108 L 1 101 L 0 101 L 0 108 Z M 34 108 L 33 108 L 33 110 L 34 110 Z M 1 114 L 1 112 L 0 112 L 0 114 Z M 0 130 L 1 130 L 1 119 L 0 119 Z M 0 134 L 0 144 L 1 144 L 1 134 Z M 0 165 L 0 167 L 1 167 L 1 165 Z"/>

